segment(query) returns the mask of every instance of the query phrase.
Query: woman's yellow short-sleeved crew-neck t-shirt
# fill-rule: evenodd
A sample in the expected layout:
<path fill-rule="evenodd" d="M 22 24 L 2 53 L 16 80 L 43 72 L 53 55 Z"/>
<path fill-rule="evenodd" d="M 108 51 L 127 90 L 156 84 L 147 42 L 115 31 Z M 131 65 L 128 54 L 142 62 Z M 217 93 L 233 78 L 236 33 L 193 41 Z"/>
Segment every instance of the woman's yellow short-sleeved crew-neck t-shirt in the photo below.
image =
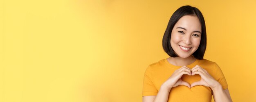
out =
<path fill-rule="evenodd" d="M 227 89 L 228 85 L 220 67 L 207 59 L 196 60 L 190 65 L 186 65 L 192 69 L 195 65 L 207 70 L 207 72 L 215 78 L 223 89 Z M 150 64 L 144 73 L 142 96 L 157 95 L 161 85 L 173 74 L 176 69 L 182 66 L 172 65 L 167 59 L 162 59 L 156 63 Z M 194 76 L 183 75 L 182 80 L 192 84 L 199 81 L 200 75 Z M 179 85 L 173 87 L 168 96 L 168 102 L 211 102 L 211 88 L 205 86 L 186 87 Z"/>

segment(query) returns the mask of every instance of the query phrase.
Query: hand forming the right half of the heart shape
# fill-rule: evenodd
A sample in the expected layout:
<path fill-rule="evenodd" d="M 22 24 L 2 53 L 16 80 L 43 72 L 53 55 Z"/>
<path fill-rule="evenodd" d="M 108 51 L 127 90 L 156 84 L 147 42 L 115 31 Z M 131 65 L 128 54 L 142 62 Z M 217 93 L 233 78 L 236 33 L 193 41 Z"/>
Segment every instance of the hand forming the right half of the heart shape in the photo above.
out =
<path fill-rule="evenodd" d="M 191 69 L 192 76 L 195 74 L 199 74 L 201 76 L 201 80 L 198 82 L 194 82 L 191 84 L 191 87 L 197 86 L 197 85 L 204 85 L 206 87 L 210 87 L 211 89 L 214 89 L 220 83 L 216 81 L 205 69 L 200 67 L 199 65 L 196 65 Z"/>

